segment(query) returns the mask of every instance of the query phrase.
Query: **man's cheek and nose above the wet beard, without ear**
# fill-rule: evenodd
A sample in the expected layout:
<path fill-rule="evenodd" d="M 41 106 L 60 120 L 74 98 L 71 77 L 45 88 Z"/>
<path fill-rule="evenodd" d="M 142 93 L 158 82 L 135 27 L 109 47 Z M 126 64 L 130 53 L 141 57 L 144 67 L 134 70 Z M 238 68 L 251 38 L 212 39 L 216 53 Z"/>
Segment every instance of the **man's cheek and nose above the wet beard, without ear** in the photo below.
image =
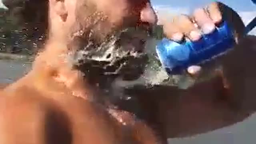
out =
<path fill-rule="evenodd" d="M 75 16 L 82 27 L 93 28 L 99 34 L 156 23 L 148 0 L 77 0 Z"/>

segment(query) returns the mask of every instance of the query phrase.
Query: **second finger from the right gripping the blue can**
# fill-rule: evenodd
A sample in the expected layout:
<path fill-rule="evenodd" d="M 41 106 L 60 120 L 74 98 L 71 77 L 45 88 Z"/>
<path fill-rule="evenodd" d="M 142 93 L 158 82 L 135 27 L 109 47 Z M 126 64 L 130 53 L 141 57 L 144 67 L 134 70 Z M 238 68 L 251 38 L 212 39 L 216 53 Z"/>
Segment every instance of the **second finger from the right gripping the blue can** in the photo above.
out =
<path fill-rule="evenodd" d="M 215 30 L 215 24 L 203 8 L 194 11 L 194 19 L 204 34 L 210 34 Z"/>

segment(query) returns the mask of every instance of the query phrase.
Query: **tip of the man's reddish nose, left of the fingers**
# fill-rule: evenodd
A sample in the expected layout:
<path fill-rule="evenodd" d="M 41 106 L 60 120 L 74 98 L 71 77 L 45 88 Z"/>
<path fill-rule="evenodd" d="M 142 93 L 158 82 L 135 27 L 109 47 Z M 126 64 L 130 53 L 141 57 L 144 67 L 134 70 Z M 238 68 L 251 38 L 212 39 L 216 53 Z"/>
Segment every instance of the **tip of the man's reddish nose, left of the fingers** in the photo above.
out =
<path fill-rule="evenodd" d="M 146 6 L 140 11 L 140 20 L 142 22 L 148 22 L 153 25 L 156 24 L 156 12 L 149 3 L 147 3 Z"/>

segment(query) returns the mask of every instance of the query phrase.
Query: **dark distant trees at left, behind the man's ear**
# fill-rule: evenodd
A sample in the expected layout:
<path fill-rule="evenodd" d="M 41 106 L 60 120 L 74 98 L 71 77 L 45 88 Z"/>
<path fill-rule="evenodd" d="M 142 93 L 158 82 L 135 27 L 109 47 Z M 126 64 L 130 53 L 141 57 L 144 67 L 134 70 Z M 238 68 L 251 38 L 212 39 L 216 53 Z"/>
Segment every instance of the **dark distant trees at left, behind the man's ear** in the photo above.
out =
<path fill-rule="evenodd" d="M 42 47 L 47 27 L 46 1 L 4 0 L 3 4 L 0 0 L 0 52 L 33 54 Z"/>

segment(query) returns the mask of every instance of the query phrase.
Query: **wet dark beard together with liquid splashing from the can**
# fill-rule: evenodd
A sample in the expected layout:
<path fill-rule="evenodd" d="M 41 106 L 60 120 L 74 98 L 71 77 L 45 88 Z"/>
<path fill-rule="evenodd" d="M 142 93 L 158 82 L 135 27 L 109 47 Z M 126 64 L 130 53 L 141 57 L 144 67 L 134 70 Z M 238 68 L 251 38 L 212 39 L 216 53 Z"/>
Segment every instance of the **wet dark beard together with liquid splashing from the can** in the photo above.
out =
<path fill-rule="evenodd" d="M 129 99 L 126 89 L 161 85 L 169 78 L 156 58 L 157 40 L 141 38 L 143 35 L 146 33 L 139 28 L 114 32 L 101 42 L 94 39 L 93 33 L 89 34 L 89 38 L 77 35 L 70 43 L 70 49 L 77 50 L 70 60 L 76 69 L 84 73 L 92 88 L 98 91 L 97 95 L 108 95 L 114 102 Z M 138 44 L 140 41 L 141 44 Z M 176 81 L 164 85 L 175 84 Z"/>

